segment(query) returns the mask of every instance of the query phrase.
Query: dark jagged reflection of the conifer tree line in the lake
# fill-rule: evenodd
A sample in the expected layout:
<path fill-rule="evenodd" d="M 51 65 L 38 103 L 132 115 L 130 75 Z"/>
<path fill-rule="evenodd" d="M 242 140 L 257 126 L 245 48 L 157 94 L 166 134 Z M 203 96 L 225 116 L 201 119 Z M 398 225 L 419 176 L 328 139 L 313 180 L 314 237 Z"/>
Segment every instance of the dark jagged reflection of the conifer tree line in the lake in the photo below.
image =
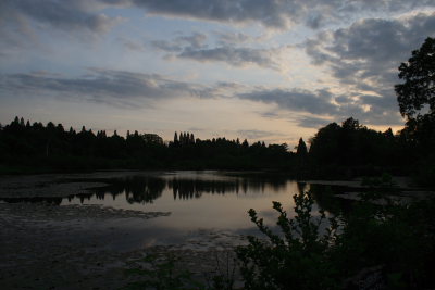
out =
<path fill-rule="evenodd" d="M 79 181 L 79 180 L 70 180 Z M 85 181 L 85 180 L 84 180 Z M 160 199 L 165 190 L 172 192 L 174 201 L 200 199 L 204 194 L 244 194 L 279 192 L 285 190 L 288 178 L 271 177 L 261 175 L 219 175 L 219 174 L 192 174 L 192 175 L 136 175 L 124 176 L 110 179 L 98 179 L 86 181 L 102 181 L 109 184 L 88 190 L 89 193 L 74 194 L 65 198 L 67 203 L 79 200 L 86 203 L 92 199 L 115 201 L 121 198 L 128 204 L 150 204 Z M 306 185 L 299 184 L 298 191 L 304 190 Z M 45 202 L 50 204 L 61 204 L 62 198 L 23 198 L 23 199 L 2 199 L 5 202 Z"/>

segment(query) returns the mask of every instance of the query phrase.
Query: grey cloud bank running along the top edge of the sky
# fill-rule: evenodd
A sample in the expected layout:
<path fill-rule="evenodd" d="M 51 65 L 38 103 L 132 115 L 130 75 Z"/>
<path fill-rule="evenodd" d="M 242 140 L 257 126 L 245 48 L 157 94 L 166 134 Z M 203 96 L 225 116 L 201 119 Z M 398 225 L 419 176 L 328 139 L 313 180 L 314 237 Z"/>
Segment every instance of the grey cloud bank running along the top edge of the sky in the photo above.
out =
<path fill-rule="evenodd" d="M 398 13 L 434 7 L 433 0 L 100 0 L 109 4 L 135 5 L 149 14 L 215 21 L 261 23 L 265 27 L 287 28 L 304 24 L 311 28 L 348 21 L 356 13 Z"/>

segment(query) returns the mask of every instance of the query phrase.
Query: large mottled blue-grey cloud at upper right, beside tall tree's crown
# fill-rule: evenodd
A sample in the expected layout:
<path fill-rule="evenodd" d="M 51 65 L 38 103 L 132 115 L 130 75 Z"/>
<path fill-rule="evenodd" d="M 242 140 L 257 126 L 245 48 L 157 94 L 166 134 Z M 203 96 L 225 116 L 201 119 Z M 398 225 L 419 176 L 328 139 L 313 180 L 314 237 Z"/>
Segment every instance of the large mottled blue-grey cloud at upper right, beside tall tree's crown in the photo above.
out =
<path fill-rule="evenodd" d="M 435 35 L 435 13 L 402 20 L 366 18 L 306 42 L 315 64 L 327 64 L 336 78 L 378 91 L 397 81 L 397 67 Z"/>

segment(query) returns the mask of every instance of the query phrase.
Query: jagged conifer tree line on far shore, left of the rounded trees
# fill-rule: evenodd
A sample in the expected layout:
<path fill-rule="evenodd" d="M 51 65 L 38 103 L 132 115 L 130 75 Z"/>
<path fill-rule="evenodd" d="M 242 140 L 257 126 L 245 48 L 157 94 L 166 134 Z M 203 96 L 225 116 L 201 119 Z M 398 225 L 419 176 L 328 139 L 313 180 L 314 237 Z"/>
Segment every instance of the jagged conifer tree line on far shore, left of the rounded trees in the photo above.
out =
<path fill-rule="evenodd" d="M 294 154 L 286 144 L 249 144 L 226 138 L 195 139 L 181 133 L 164 143 L 154 134 L 104 130 L 95 134 L 85 126 L 76 131 L 61 124 L 24 122 L 15 117 L 0 126 L 0 169 L 12 172 L 77 172 L 92 169 L 262 169 L 289 168 Z M 4 169 L 7 172 L 7 169 Z M 3 169 L 1 169 L 3 172 Z M 8 173 L 8 172 L 7 172 Z"/>

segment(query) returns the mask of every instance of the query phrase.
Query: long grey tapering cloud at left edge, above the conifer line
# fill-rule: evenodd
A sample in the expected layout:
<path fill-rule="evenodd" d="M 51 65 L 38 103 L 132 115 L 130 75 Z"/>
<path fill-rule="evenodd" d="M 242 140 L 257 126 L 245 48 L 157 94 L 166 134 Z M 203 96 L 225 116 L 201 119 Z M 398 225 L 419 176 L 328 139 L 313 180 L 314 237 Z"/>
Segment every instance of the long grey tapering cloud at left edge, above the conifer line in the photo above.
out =
<path fill-rule="evenodd" d="M 89 68 L 87 75 L 66 78 L 47 73 L 0 75 L 2 91 L 9 96 L 57 97 L 136 106 L 146 101 L 199 96 L 201 86 L 157 74 Z"/>

